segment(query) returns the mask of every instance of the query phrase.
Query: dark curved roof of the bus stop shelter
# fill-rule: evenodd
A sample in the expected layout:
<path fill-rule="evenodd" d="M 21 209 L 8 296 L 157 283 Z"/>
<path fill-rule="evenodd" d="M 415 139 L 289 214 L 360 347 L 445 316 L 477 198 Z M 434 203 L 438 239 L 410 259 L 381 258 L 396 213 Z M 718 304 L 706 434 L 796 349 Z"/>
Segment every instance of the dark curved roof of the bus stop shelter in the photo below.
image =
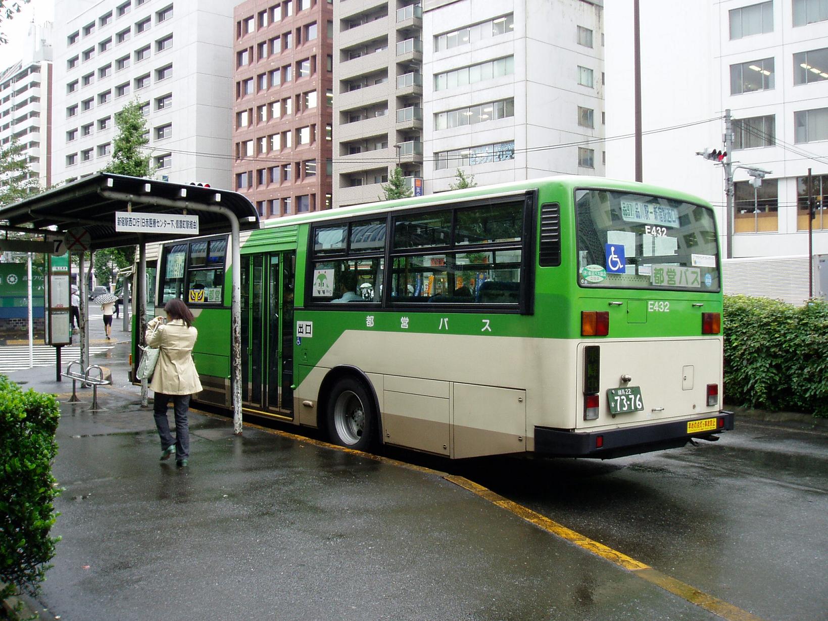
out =
<path fill-rule="evenodd" d="M 230 230 L 223 214 L 194 209 L 200 205 L 230 209 L 242 230 L 259 227 L 256 208 L 238 192 L 108 172 L 84 177 L 0 209 L 0 221 L 7 220 L 15 227 L 31 225 L 40 229 L 32 233 L 41 234 L 46 233 L 46 227 L 54 226 L 61 232 L 80 227 L 89 231 L 91 250 L 117 248 L 138 243 L 138 233 L 115 230 L 115 212 L 128 211 L 130 204 L 132 212 L 152 214 L 183 214 L 189 208 L 188 214 L 199 216 L 200 235 Z M 145 233 L 144 241 L 161 242 L 176 237 L 181 237 L 181 233 Z"/>

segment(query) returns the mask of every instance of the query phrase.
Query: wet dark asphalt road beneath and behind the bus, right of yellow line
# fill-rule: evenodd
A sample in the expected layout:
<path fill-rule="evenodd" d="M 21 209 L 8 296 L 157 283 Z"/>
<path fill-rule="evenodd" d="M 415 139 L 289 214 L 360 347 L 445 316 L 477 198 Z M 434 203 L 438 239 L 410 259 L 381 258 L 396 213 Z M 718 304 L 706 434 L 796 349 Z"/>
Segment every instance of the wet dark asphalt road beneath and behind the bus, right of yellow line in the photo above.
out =
<path fill-rule="evenodd" d="M 828 619 L 825 432 L 739 419 L 680 450 L 452 469 L 763 619 Z"/>

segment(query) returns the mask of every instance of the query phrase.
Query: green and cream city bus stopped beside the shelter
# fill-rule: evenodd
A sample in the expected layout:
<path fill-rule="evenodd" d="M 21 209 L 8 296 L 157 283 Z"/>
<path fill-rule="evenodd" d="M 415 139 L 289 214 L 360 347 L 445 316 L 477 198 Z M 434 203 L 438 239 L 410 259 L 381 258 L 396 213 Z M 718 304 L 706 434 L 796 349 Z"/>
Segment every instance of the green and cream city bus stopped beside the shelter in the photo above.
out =
<path fill-rule="evenodd" d="M 156 307 L 196 315 L 196 400 L 223 407 L 228 245 L 148 255 Z M 551 177 L 264 220 L 240 250 L 245 412 L 455 459 L 733 428 L 715 219 L 691 195 Z"/>

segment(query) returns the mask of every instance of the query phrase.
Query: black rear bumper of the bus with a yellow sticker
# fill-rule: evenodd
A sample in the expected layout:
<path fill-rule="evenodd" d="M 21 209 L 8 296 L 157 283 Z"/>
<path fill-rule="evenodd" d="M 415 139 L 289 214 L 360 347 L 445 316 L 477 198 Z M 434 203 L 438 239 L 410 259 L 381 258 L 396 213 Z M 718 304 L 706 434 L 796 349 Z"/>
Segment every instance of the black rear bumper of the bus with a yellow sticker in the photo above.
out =
<path fill-rule="evenodd" d="M 681 448 L 691 438 L 718 440 L 715 434 L 733 429 L 733 412 L 721 411 L 715 416 L 716 429 L 688 432 L 688 423 L 704 421 L 713 416 L 690 420 L 669 421 L 605 431 L 567 431 L 535 427 L 535 453 L 549 457 L 597 457 L 611 459 L 625 455 L 649 453 L 652 450 Z M 711 437 L 712 436 L 712 437 Z"/>

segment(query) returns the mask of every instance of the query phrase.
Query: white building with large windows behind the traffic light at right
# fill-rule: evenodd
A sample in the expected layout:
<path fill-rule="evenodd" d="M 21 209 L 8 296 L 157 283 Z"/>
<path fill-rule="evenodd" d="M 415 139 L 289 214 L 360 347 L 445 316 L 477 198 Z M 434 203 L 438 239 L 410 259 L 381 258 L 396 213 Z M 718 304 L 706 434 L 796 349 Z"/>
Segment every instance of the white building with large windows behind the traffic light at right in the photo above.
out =
<path fill-rule="evenodd" d="M 613 3 L 614 4 L 614 3 Z M 728 225 L 724 176 L 696 152 L 724 147 L 724 111 L 733 118 L 733 256 L 808 253 L 806 176 L 817 197 L 814 253 L 828 253 L 828 2 L 724 0 L 667 7 L 641 3 L 644 181 L 700 195 Z M 607 8 L 610 135 L 631 129 L 631 109 L 616 98 L 632 79 L 629 7 Z M 617 28 L 615 26 L 618 26 Z M 663 67 L 686 70 L 665 71 Z M 690 88 L 688 88 L 690 87 Z M 629 119 L 629 120 L 628 120 Z M 696 123 L 690 128 L 677 126 Z M 632 178 L 632 142 L 609 143 L 609 176 Z M 754 192 L 749 168 L 772 171 Z M 807 281 L 807 275 L 805 275 Z"/>

